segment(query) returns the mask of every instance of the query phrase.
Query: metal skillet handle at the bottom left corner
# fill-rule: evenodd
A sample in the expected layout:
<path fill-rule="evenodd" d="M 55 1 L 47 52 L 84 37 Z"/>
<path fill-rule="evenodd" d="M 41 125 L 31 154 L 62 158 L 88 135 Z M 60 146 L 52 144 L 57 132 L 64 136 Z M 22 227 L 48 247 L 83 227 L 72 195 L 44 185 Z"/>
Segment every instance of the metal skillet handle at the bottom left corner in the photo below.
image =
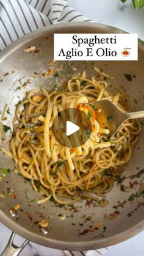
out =
<path fill-rule="evenodd" d="M 20 254 L 20 252 L 24 249 L 24 247 L 28 243 L 28 240 L 25 240 L 24 243 L 21 244 L 20 247 L 18 247 L 13 243 L 14 238 L 15 238 L 15 233 L 12 232 L 12 234 L 10 235 L 9 242 L 5 246 L 1 256 L 17 256 Z"/>

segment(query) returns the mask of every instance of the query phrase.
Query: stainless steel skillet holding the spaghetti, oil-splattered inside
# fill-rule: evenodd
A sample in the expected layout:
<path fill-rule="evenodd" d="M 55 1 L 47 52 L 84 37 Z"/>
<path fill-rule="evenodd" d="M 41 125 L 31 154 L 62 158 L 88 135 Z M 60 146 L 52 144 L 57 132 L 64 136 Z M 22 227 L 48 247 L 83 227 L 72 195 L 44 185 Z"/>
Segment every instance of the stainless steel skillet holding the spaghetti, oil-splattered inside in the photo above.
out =
<path fill-rule="evenodd" d="M 43 84 L 49 90 L 53 88 L 54 81 L 52 78 L 43 78 L 41 74 L 44 70 L 51 68 L 51 63 L 49 62 L 53 56 L 53 34 L 56 32 L 122 33 L 123 31 L 91 23 L 58 24 L 32 32 L 13 43 L 0 56 L 0 109 L 4 107 L 5 103 L 8 103 L 9 108 L 12 110 L 11 114 L 14 115 L 15 104 L 23 99 L 26 90 L 37 88 L 39 84 Z M 26 53 L 24 49 L 29 46 L 35 46 L 38 52 Z M 114 76 L 115 79 L 110 81 L 111 90 L 116 90 L 115 85 L 123 86 L 126 89 L 131 100 L 132 111 L 143 109 L 143 42 L 139 42 L 139 61 L 137 62 L 103 61 L 95 62 L 95 65 Z M 92 66 L 90 62 L 88 64 L 85 62 L 73 64 L 73 67 L 76 67 L 79 72 L 86 68 L 88 76 L 95 75 Z M 61 82 L 62 84 L 65 84 L 68 76 L 76 72 L 73 68 L 68 68 L 68 62 L 57 62 L 56 67 L 60 69 L 59 83 Z M 132 81 L 128 81 L 124 74 L 131 74 Z M 136 78 L 133 78 L 133 75 Z M 30 79 L 31 83 L 23 86 L 27 79 Z M 16 89 L 18 86 L 21 86 L 21 90 Z M 61 85 L 60 88 L 62 88 Z M 7 114 L 5 124 L 8 126 L 12 123 L 12 115 Z M 4 148 L 9 148 L 11 136 L 12 134 L 8 132 L 6 140 L 2 142 Z M 76 251 L 96 249 L 128 239 L 140 232 L 144 227 L 143 196 L 134 196 L 139 191 L 139 183 L 140 181 L 141 183 L 143 182 L 142 179 L 144 177 L 143 142 L 142 126 L 140 141 L 135 148 L 131 161 L 129 161 L 124 170 L 125 175 L 139 173 L 134 178 L 137 185 L 131 185 L 132 188 L 129 188 L 129 192 L 124 192 L 121 191 L 120 184 L 115 183 L 112 191 L 107 195 L 109 204 L 105 208 L 98 208 L 93 204 L 88 205 L 88 203 L 85 205 L 85 202 L 76 203 L 76 205 L 68 209 L 67 207 L 55 207 L 53 202 L 37 205 L 37 200 L 41 196 L 38 193 L 35 194 L 29 182 L 18 175 L 16 171 L 13 172 L 15 166 L 12 159 L 0 152 L 0 169 L 7 168 L 11 170 L 5 177 L 2 176 L 0 181 L 0 194 L 4 191 L 6 196 L 5 198 L 0 197 L 0 221 L 27 240 L 57 249 Z M 134 180 L 126 180 L 124 185 L 129 186 L 129 182 L 133 183 Z M 9 196 L 9 189 L 15 194 L 15 199 Z M 121 206 L 115 209 L 118 202 Z M 16 216 L 12 216 L 10 210 L 16 204 L 20 205 L 21 210 L 18 210 Z M 63 213 L 67 214 L 65 221 L 59 218 L 59 214 Z M 114 213 L 115 215 L 113 216 L 116 217 L 112 220 L 109 216 Z M 108 218 L 106 218 L 106 214 Z M 88 218 L 88 216 L 92 218 Z M 38 227 L 37 221 L 41 221 L 43 218 L 49 222 L 48 230 L 42 230 Z M 87 218 L 90 220 L 85 221 Z M 103 228 L 92 231 L 93 229 L 90 226 L 98 221 L 103 223 Z"/>

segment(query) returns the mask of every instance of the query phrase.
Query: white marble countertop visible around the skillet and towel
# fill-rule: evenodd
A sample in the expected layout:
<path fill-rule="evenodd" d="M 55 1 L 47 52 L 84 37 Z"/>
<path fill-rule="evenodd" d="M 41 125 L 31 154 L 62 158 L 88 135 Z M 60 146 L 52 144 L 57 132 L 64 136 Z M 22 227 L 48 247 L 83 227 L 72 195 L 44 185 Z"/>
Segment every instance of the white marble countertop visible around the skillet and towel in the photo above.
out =
<path fill-rule="evenodd" d="M 132 0 L 127 0 L 124 4 L 121 4 L 120 0 L 69 0 L 68 3 L 96 23 L 108 24 L 124 31 L 138 33 L 139 38 L 144 40 L 144 7 L 136 11 L 132 7 Z M 10 230 L 0 223 L 0 254 L 9 240 L 9 236 Z M 20 245 L 21 241 L 20 236 L 17 236 L 16 244 Z M 123 243 L 110 247 L 104 255 L 142 256 L 144 255 L 143 241 L 144 231 Z M 63 256 L 65 254 L 62 251 L 30 242 L 20 255 Z"/>

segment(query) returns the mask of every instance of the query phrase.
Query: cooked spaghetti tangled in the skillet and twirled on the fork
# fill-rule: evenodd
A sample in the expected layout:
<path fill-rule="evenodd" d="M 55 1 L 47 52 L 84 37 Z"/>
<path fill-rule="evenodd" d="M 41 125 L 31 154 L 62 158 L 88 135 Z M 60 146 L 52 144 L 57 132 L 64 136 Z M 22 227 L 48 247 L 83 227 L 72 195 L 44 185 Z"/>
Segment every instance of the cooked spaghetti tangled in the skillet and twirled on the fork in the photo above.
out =
<path fill-rule="evenodd" d="M 104 79 L 88 79 L 85 71 L 81 76 L 73 76 L 65 91 L 48 93 L 41 87 L 41 90 L 28 92 L 24 101 L 18 104 L 10 149 L 21 174 L 31 180 L 35 191 L 45 196 L 38 203 L 53 198 L 59 204 L 70 204 L 82 198 L 91 198 L 100 206 L 107 204 L 107 200 L 100 200 L 95 194 L 106 196 L 113 182 L 122 174 L 139 139 L 139 121 L 128 120 L 114 136 L 104 137 L 101 133 L 109 131 L 101 129 L 99 123 L 93 120 L 90 138 L 78 148 L 60 145 L 51 129 L 59 111 L 66 107 L 82 108 L 85 103 L 86 109 L 90 108 L 93 114 L 95 109 L 89 103 L 96 100 L 109 100 L 121 111 L 130 110 L 126 93 L 120 90 L 112 93 Z M 37 112 L 46 112 L 46 115 L 31 116 Z M 26 115 L 30 117 L 27 119 Z M 41 126 L 32 129 L 37 132 L 38 144 L 30 142 L 29 129 L 26 128 L 29 122 L 41 122 Z"/>

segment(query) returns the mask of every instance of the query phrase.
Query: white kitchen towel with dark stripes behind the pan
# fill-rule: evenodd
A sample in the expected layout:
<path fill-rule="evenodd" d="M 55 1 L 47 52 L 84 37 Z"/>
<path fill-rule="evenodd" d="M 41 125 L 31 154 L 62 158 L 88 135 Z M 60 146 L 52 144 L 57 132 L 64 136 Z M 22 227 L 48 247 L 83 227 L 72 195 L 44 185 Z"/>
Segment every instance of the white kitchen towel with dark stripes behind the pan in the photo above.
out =
<path fill-rule="evenodd" d="M 90 20 L 67 0 L 0 0 L 0 51 L 36 29 L 71 21 Z"/>

